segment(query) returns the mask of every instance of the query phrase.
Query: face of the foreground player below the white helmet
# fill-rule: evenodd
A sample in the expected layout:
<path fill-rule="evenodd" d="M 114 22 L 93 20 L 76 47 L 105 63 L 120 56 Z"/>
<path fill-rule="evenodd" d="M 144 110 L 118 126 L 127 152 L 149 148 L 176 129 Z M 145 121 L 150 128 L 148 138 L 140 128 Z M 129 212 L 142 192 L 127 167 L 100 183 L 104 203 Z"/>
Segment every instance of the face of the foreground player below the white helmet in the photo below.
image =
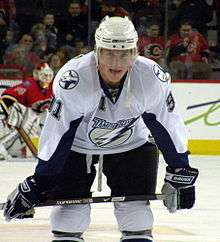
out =
<path fill-rule="evenodd" d="M 99 53 L 99 71 L 103 80 L 112 86 L 120 84 L 122 77 L 132 65 L 131 50 L 101 49 Z"/>

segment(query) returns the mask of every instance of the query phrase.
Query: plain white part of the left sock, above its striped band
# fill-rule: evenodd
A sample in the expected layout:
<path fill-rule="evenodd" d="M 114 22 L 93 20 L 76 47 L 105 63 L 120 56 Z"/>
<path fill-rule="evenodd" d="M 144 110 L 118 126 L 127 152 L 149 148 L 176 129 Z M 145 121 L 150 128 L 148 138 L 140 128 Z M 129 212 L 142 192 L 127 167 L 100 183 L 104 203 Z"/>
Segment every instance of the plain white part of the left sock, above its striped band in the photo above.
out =
<path fill-rule="evenodd" d="M 54 207 L 50 215 L 52 231 L 83 233 L 91 221 L 90 210 L 90 204 Z"/>

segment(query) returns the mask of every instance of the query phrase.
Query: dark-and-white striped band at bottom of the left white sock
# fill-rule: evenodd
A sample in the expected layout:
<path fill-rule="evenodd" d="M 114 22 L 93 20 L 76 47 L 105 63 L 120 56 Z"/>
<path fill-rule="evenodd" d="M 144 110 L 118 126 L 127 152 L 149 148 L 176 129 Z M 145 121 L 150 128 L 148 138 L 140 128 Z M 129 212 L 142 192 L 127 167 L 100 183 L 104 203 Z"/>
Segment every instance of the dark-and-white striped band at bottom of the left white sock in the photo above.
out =
<path fill-rule="evenodd" d="M 52 242 L 84 242 L 82 233 L 67 233 L 61 231 L 52 231 Z"/>

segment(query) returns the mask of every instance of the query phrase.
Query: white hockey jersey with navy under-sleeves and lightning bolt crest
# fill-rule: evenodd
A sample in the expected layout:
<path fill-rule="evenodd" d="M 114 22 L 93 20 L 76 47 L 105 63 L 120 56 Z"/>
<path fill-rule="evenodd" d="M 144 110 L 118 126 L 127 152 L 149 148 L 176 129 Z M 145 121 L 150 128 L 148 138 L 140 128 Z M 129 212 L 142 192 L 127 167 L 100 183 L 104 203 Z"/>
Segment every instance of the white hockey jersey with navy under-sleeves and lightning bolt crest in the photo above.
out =
<path fill-rule="evenodd" d="M 84 154 L 124 152 L 143 145 L 151 133 L 168 164 L 188 163 L 186 129 L 157 63 L 139 56 L 116 102 L 102 82 L 94 52 L 60 69 L 40 137 L 40 160 L 57 164 L 69 149 Z"/>

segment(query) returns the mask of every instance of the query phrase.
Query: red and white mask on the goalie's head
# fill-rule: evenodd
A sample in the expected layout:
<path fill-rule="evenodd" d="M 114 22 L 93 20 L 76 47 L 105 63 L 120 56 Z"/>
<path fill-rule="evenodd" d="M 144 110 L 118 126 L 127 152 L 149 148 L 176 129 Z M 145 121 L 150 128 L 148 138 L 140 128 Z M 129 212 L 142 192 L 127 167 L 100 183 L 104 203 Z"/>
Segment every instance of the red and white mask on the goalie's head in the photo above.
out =
<path fill-rule="evenodd" d="M 42 88 L 47 88 L 53 80 L 54 73 L 47 63 L 42 63 L 35 67 L 33 77 L 39 81 Z"/>

